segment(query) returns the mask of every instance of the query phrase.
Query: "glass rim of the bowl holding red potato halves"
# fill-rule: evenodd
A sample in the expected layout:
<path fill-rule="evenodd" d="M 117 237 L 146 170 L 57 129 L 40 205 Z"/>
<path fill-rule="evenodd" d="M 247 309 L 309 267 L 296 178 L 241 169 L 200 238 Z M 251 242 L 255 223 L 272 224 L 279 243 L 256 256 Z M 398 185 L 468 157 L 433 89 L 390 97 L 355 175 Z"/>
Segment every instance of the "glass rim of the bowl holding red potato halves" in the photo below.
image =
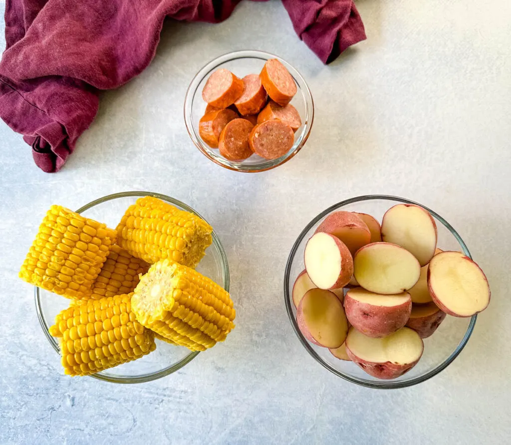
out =
<path fill-rule="evenodd" d="M 449 366 L 454 359 L 458 356 L 458 354 L 461 352 L 461 350 L 464 348 L 464 346 L 469 341 L 469 338 L 472 334 L 472 331 L 474 330 L 474 326 L 477 320 L 477 315 L 473 315 L 470 319 L 469 326 L 467 328 L 467 331 L 465 332 L 465 335 L 461 339 L 461 342 L 458 344 L 456 349 L 449 355 L 449 357 L 444 360 L 439 365 L 435 366 L 433 369 L 429 370 L 428 372 L 419 375 L 417 377 L 414 377 L 413 379 L 407 380 L 407 381 L 391 381 L 391 380 L 382 380 L 382 381 L 366 381 L 363 379 L 358 379 L 357 377 L 353 377 L 351 375 L 344 374 L 331 365 L 329 365 L 327 362 L 325 362 L 323 359 L 321 359 L 320 355 L 311 347 L 309 342 L 306 340 L 306 338 L 302 335 L 298 328 L 298 324 L 296 322 L 296 319 L 293 315 L 293 308 L 291 306 L 292 298 L 289 293 L 289 279 L 291 275 L 291 265 L 293 262 L 293 259 L 296 255 L 296 251 L 298 250 L 298 247 L 301 243 L 301 241 L 305 238 L 306 234 L 311 230 L 312 227 L 322 218 L 333 212 L 334 210 L 338 210 L 344 206 L 347 206 L 349 204 L 353 203 L 359 203 L 363 201 L 371 201 L 374 199 L 383 199 L 386 201 L 396 201 L 401 202 L 403 204 L 415 204 L 417 206 L 422 207 L 423 209 L 430 212 L 436 219 L 438 219 L 442 224 L 451 232 L 451 234 L 456 238 L 456 240 L 459 242 L 461 249 L 463 250 L 463 253 L 467 255 L 469 258 L 472 259 L 472 256 L 470 255 L 469 249 L 467 248 L 464 241 L 459 236 L 458 232 L 454 230 L 454 228 L 445 220 L 442 216 L 440 216 L 438 213 L 434 212 L 433 210 L 429 209 L 426 206 L 423 206 L 422 204 L 416 203 L 414 201 L 410 201 L 410 199 L 401 198 L 399 196 L 391 196 L 391 195 L 361 195 L 356 196 L 353 198 L 345 199 L 344 201 L 341 201 L 337 204 L 334 204 L 330 206 L 329 208 L 323 210 L 320 212 L 317 216 L 315 216 L 309 224 L 305 227 L 303 231 L 299 234 L 298 238 L 293 244 L 293 247 L 291 249 L 291 252 L 289 253 L 287 263 L 286 263 L 286 269 L 284 273 L 284 302 L 286 305 L 286 311 L 289 317 L 289 321 L 293 327 L 293 330 L 298 337 L 298 340 L 300 343 L 306 348 L 307 352 L 312 355 L 312 357 L 318 362 L 320 365 L 322 365 L 324 368 L 328 369 L 330 372 L 334 373 L 335 375 L 341 377 L 344 380 L 347 380 L 351 383 L 355 383 L 360 386 L 364 386 L 367 388 L 376 388 L 376 389 L 398 389 L 398 388 L 406 388 L 409 386 L 417 385 L 419 383 L 425 382 L 428 379 L 431 379 L 434 375 L 438 374 L 440 371 L 443 371 L 447 366 Z"/>

